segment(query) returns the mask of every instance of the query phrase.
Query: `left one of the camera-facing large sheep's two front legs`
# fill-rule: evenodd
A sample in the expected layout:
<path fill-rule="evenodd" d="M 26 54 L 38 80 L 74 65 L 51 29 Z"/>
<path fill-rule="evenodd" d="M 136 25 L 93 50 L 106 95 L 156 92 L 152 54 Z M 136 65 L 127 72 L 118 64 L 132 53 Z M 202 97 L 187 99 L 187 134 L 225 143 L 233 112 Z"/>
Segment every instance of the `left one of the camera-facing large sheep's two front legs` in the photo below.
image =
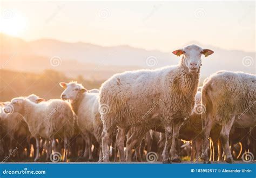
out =
<path fill-rule="evenodd" d="M 163 150 L 163 163 L 171 163 L 169 158 L 169 147 L 172 140 L 172 126 L 167 126 L 165 128 L 165 146 Z"/>

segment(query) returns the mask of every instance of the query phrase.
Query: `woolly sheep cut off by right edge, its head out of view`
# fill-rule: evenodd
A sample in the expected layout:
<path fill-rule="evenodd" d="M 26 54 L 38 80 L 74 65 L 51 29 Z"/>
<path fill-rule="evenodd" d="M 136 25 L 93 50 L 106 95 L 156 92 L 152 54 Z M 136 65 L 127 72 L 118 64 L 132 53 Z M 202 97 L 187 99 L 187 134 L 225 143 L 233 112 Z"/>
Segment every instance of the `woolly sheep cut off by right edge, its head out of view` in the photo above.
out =
<path fill-rule="evenodd" d="M 207 138 L 214 123 L 220 124 L 220 140 L 226 162 L 233 163 L 228 135 L 231 127 L 255 127 L 256 125 L 256 75 L 244 72 L 219 71 L 208 77 L 203 84 L 202 114 L 203 150 L 207 149 Z M 204 162 L 210 162 L 204 155 Z"/>

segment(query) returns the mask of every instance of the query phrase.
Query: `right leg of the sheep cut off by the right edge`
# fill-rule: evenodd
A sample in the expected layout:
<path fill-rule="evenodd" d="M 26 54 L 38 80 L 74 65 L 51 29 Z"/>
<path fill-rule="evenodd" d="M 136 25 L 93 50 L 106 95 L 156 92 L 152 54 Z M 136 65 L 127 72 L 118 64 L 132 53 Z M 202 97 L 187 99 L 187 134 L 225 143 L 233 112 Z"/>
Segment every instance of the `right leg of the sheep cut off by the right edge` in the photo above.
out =
<path fill-rule="evenodd" d="M 220 131 L 220 140 L 223 145 L 224 153 L 226 155 L 226 162 L 233 163 L 234 160 L 232 158 L 230 145 L 228 143 L 228 137 L 230 135 L 231 127 L 233 126 L 235 117 L 232 117 L 226 124 L 224 124 Z"/>

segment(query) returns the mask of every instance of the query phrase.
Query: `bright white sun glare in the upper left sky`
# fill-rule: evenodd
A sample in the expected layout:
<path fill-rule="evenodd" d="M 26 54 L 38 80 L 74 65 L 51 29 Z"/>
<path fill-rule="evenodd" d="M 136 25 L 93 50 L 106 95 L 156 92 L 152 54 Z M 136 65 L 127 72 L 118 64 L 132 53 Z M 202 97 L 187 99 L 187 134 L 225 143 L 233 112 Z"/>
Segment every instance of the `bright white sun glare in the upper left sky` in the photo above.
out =
<path fill-rule="evenodd" d="M 11 36 L 20 35 L 26 28 L 25 19 L 22 16 L 11 16 L 0 19 L 0 32 Z"/>

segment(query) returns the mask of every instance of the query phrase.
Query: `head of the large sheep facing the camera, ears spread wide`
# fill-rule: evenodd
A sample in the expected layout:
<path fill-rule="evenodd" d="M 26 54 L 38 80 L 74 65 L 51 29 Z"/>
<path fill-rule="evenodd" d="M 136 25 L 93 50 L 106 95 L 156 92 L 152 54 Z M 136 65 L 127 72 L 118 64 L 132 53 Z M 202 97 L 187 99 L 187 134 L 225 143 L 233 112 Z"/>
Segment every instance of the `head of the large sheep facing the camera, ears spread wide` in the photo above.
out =
<path fill-rule="evenodd" d="M 184 65 L 187 67 L 188 71 L 191 73 L 197 73 L 201 66 L 201 54 L 205 57 L 213 53 L 212 50 L 202 49 L 197 45 L 189 45 L 183 49 L 179 49 L 172 52 L 177 56 L 183 57 Z"/>

